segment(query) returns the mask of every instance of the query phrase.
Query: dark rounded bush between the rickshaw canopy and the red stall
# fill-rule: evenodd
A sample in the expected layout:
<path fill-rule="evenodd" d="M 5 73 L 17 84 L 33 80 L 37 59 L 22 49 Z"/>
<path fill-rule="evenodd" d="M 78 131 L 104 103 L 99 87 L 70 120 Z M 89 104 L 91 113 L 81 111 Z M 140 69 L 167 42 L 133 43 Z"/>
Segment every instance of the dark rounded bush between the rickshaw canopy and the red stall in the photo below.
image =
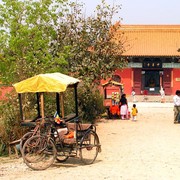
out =
<path fill-rule="evenodd" d="M 80 115 L 85 121 L 94 123 L 105 112 L 103 97 L 98 90 L 92 90 L 88 86 L 80 87 L 78 100 Z"/>

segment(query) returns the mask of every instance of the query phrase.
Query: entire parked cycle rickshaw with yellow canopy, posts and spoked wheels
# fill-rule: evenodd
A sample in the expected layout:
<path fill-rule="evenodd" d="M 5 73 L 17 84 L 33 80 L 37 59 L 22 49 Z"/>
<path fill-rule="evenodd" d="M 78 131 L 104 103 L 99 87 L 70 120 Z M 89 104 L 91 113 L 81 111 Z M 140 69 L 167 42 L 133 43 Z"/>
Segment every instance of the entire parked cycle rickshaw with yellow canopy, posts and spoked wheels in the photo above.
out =
<path fill-rule="evenodd" d="M 14 84 L 18 93 L 22 126 L 32 130 L 21 138 L 20 149 L 24 162 L 34 170 L 44 170 L 55 160 L 64 162 L 69 157 L 80 157 L 84 164 L 92 164 L 101 152 L 99 137 L 93 124 L 83 124 L 78 116 L 76 78 L 61 74 L 39 74 Z M 63 94 L 73 89 L 75 110 L 65 116 Z M 37 118 L 26 120 L 23 114 L 22 96 L 36 94 Z M 44 94 L 56 94 L 56 115 L 47 116 L 44 109 Z"/>

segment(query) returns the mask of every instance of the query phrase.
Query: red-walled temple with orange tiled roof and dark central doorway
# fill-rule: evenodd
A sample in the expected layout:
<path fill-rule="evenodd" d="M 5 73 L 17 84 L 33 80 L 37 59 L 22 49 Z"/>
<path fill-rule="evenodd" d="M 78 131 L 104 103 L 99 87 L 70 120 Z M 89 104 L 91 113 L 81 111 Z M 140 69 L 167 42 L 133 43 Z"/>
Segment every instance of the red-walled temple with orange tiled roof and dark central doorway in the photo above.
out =
<path fill-rule="evenodd" d="M 180 89 L 180 25 L 122 25 L 128 67 L 116 70 L 126 94 L 166 95 Z"/>

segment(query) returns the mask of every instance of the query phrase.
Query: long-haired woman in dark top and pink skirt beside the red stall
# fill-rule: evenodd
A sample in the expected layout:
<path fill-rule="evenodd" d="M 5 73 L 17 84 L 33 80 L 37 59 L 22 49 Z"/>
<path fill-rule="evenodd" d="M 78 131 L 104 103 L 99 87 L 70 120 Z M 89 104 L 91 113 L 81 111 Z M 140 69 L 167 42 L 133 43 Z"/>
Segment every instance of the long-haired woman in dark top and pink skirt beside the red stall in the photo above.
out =
<path fill-rule="evenodd" d="M 121 119 L 125 119 L 128 116 L 128 102 L 126 99 L 126 94 L 122 94 L 120 99 L 120 113 L 121 113 Z"/>

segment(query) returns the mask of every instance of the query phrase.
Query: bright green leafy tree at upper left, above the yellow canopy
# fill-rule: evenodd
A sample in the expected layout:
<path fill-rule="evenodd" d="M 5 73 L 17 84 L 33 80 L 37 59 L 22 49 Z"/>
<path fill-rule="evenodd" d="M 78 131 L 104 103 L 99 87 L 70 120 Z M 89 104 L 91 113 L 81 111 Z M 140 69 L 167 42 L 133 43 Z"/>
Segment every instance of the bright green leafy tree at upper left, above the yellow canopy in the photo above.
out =
<path fill-rule="evenodd" d="M 1 82 L 16 82 L 32 75 L 61 71 L 63 53 L 53 53 L 58 19 L 66 0 L 3 0 L 0 4 Z"/>

